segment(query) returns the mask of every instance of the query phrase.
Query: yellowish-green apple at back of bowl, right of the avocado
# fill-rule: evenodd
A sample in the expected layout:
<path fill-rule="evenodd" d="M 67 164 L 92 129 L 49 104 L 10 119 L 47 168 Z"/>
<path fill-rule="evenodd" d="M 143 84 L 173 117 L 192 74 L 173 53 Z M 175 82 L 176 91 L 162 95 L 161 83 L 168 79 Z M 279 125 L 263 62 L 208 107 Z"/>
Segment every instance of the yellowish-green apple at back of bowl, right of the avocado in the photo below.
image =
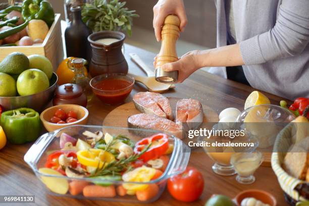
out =
<path fill-rule="evenodd" d="M 30 69 L 42 70 L 47 75 L 48 79 L 52 78 L 53 65 L 46 57 L 41 55 L 31 55 L 28 59 L 30 62 Z"/>

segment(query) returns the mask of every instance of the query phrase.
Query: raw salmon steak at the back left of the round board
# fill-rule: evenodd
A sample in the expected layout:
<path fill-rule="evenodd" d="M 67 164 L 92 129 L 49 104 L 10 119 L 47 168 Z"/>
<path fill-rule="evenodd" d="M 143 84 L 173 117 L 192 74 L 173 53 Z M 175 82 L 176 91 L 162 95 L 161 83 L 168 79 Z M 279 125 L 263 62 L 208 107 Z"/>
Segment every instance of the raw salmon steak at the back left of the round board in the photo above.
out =
<path fill-rule="evenodd" d="M 142 113 L 174 119 L 170 101 L 162 94 L 149 91 L 138 92 L 133 96 L 133 102 L 135 108 Z"/>

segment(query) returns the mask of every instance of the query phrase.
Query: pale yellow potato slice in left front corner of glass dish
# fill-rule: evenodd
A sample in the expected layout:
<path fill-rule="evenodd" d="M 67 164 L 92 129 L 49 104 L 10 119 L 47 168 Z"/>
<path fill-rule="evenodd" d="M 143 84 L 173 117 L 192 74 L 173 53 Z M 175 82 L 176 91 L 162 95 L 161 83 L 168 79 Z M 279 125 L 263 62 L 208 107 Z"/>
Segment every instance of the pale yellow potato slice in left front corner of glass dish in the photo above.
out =
<path fill-rule="evenodd" d="M 39 172 L 46 175 L 63 176 L 60 172 L 50 168 L 40 168 Z M 41 176 L 41 181 L 46 185 L 48 189 L 57 194 L 66 194 L 69 190 L 69 182 L 64 178 Z"/>

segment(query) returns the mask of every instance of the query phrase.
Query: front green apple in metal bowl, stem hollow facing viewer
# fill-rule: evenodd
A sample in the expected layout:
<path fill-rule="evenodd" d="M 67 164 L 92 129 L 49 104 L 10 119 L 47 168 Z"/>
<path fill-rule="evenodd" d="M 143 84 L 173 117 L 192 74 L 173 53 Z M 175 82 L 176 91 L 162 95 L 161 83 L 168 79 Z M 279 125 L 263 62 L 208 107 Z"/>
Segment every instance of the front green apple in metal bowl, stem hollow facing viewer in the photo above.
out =
<path fill-rule="evenodd" d="M 17 91 L 21 96 L 39 93 L 48 87 L 48 77 L 39 69 L 23 71 L 17 79 Z"/>

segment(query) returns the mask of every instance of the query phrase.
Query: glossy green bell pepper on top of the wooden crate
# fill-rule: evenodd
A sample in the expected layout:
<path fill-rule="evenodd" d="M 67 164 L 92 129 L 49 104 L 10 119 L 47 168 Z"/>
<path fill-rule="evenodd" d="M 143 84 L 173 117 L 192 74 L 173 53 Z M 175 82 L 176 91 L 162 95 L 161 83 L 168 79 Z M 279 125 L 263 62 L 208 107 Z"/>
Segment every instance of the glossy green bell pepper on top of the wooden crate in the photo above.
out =
<path fill-rule="evenodd" d="M 46 0 L 25 0 L 22 9 L 22 17 L 25 21 L 40 19 L 50 27 L 55 20 L 54 9 Z"/>

